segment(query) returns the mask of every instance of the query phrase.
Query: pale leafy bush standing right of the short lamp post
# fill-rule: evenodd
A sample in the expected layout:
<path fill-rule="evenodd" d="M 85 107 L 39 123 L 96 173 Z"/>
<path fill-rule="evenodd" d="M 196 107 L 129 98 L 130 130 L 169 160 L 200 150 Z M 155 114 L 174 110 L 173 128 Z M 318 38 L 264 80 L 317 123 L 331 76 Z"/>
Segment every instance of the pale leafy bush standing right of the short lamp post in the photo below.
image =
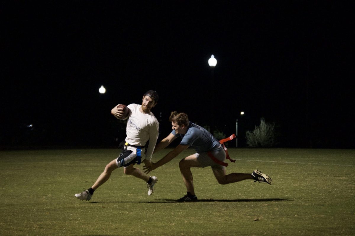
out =
<path fill-rule="evenodd" d="M 277 144 L 277 134 L 275 132 L 275 123 L 266 123 L 264 118 L 260 119 L 260 126 L 246 132 L 246 144 L 253 148 L 269 148 Z"/>

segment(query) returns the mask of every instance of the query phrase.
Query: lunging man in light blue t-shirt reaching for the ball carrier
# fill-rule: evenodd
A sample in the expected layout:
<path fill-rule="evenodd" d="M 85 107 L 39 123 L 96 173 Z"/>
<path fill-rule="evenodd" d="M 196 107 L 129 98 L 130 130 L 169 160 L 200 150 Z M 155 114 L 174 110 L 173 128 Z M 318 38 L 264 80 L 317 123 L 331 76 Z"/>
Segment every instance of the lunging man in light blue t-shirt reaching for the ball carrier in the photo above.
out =
<path fill-rule="evenodd" d="M 182 139 L 180 144 L 157 163 L 152 162 L 151 166 L 144 166 L 143 169 L 148 174 L 152 170 L 174 159 L 189 146 L 196 150 L 195 154 L 185 157 L 179 163 L 187 194 L 178 199 L 178 201 L 197 201 L 195 190 L 193 188 L 193 178 L 190 171 L 191 167 L 203 168 L 211 166 L 213 174 L 219 184 L 230 184 L 246 179 L 254 179 L 255 182 L 258 181 L 271 184 L 272 179 L 258 170 L 253 171 L 252 174 L 231 173 L 227 175 L 225 168 L 227 165 L 223 162 L 226 159 L 226 152 L 221 143 L 213 137 L 211 133 L 203 127 L 189 122 L 189 118 L 185 113 L 177 113 L 176 111 L 173 111 L 169 121 L 171 121 L 173 131 L 155 146 L 154 153 L 166 148 L 177 137 L 181 137 Z"/>

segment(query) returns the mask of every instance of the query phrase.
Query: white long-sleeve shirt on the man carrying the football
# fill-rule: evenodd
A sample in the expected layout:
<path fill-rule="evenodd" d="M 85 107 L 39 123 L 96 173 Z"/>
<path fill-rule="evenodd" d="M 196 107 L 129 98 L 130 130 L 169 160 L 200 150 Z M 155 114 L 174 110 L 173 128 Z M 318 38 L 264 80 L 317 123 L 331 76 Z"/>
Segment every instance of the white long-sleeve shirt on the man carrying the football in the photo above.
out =
<path fill-rule="evenodd" d="M 127 107 L 131 110 L 131 113 L 127 120 L 127 137 L 125 140 L 127 143 L 136 146 L 145 146 L 149 140 L 145 159 L 151 160 L 155 144 L 157 144 L 159 122 L 152 112 L 141 113 L 139 110 L 141 105 L 132 103 Z"/>

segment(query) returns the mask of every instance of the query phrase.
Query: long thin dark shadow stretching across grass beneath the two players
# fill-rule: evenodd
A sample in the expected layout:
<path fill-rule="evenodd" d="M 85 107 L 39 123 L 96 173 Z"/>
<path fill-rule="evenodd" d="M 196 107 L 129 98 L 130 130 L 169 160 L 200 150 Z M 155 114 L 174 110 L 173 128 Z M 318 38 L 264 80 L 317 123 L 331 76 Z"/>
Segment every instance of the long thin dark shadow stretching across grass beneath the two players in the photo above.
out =
<path fill-rule="evenodd" d="M 247 198 L 247 199 L 199 199 L 197 202 L 272 202 L 272 201 L 293 201 L 283 198 Z M 176 199 L 158 199 L 157 201 L 132 202 L 132 201 L 110 201 L 90 203 L 180 203 Z"/>

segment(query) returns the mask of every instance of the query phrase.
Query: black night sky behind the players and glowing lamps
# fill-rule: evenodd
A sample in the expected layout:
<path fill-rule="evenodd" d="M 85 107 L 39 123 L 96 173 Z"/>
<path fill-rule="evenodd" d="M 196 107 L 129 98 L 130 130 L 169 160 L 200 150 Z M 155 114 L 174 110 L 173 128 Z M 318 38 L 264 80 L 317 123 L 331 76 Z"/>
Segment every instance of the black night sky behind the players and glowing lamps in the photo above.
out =
<path fill-rule="evenodd" d="M 176 110 L 200 125 L 214 115 L 226 135 L 264 117 L 280 147 L 355 148 L 353 12 L 346 1 L 2 3 L 0 142 L 116 145 L 111 108 L 152 89 L 160 138 Z"/>

